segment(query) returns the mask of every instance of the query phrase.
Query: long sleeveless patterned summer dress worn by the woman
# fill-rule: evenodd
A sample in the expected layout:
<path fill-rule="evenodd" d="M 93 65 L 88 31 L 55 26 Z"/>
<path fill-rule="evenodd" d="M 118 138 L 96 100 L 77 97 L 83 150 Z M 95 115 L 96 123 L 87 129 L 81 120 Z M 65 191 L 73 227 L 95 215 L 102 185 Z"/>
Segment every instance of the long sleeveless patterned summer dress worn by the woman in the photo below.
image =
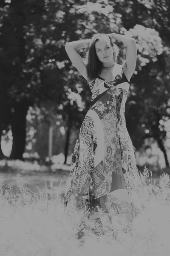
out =
<path fill-rule="evenodd" d="M 142 182 L 125 122 L 130 85 L 119 65 L 119 74 L 111 82 L 98 76 L 89 86 L 91 107 L 74 147 L 65 206 L 73 196 L 78 208 L 89 210 L 91 220 L 99 219 L 99 206 L 103 215 L 114 212 L 132 223 L 142 210 Z"/>

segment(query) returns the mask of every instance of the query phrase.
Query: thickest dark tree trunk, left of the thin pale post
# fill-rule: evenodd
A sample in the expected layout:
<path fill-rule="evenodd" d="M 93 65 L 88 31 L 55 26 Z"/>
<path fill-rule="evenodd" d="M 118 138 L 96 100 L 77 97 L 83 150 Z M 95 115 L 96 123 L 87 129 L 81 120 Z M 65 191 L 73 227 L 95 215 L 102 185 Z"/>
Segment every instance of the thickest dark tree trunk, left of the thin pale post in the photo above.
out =
<path fill-rule="evenodd" d="M 11 129 L 12 129 L 12 151 L 11 159 L 23 160 L 23 153 L 26 145 L 26 115 L 29 105 L 28 102 L 16 102 L 14 112 L 12 114 Z"/>

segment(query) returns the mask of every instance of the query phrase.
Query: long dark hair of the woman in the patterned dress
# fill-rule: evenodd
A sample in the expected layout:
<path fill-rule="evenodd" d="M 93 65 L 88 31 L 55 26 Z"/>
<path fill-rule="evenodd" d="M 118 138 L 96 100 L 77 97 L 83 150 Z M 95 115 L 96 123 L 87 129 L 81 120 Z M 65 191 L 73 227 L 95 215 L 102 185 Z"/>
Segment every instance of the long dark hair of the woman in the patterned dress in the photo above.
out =
<path fill-rule="evenodd" d="M 87 47 L 87 52 L 85 53 L 85 65 L 86 65 L 86 70 L 87 70 L 87 80 L 90 82 L 93 79 L 96 79 L 96 77 L 101 73 L 102 71 L 102 62 L 99 61 L 99 58 L 96 55 L 96 49 L 95 49 L 95 44 L 97 41 L 99 41 L 99 39 L 102 38 L 102 34 L 95 34 L 92 36 L 91 38 L 91 42 L 90 43 L 86 43 L 89 42 L 89 39 L 85 39 L 85 45 Z M 111 40 L 111 47 L 113 48 L 113 52 L 114 52 L 114 61 L 117 63 L 118 60 L 118 55 L 119 55 L 119 47 L 114 44 L 113 39 L 110 38 Z"/>

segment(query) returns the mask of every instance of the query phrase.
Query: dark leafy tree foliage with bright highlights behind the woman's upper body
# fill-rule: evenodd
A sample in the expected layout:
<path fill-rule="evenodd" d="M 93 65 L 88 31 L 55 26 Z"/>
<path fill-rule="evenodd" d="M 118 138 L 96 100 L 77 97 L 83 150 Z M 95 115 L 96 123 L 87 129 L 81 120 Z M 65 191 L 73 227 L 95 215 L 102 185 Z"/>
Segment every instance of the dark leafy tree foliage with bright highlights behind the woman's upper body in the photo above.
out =
<path fill-rule="evenodd" d="M 73 67 L 64 45 L 67 41 L 90 38 L 96 32 L 116 32 L 132 36 L 137 44 L 136 71 L 126 104 L 130 137 L 136 149 L 146 135 L 155 138 L 166 157 L 164 126 L 170 115 L 169 10 L 168 0 L 2 1 L 1 109 L 5 113 L 4 116 L 0 113 L 2 129 L 8 131 L 14 125 L 11 119 L 19 101 L 27 102 L 28 109 L 39 108 L 50 116 L 50 122 L 62 115 L 65 131 L 70 127 L 79 131 L 90 106 L 91 91 Z M 125 48 L 121 42 L 116 44 L 121 48 L 122 64 Z M 79 50 L 82 57 L 84 51 Z M 40 133 L 47 134 L 41 127 Z M 47 147 L 47 136 L 45 140 Z"/>

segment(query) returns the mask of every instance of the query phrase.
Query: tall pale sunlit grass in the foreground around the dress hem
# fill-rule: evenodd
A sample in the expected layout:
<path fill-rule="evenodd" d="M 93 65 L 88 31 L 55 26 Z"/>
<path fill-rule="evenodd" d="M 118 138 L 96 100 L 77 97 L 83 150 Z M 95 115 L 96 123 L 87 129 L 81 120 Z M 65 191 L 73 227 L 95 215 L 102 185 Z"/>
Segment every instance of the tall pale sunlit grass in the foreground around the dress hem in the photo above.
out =
<path fill-rule="evenodd" d="M 168 256 L 170 177 L 163 173 L 156 184 L 151 175 L 147 169 L 141 175 L 146 208 L 132 230 L 125 233 L 123 222 L 115 216 L 110 225 L 107 218 L 102 219 L 104 232 L 99 227 L 99 233 L 94 233 L 91 224 L 78 236 L 83 212 L 74 208 L 74 202 L 65 211 L 59 188 L 49 195 L 45 180 L 44 191 L 33 193 L 17 174 L 3 189 L 0 174 L 0 256 Z"/>

